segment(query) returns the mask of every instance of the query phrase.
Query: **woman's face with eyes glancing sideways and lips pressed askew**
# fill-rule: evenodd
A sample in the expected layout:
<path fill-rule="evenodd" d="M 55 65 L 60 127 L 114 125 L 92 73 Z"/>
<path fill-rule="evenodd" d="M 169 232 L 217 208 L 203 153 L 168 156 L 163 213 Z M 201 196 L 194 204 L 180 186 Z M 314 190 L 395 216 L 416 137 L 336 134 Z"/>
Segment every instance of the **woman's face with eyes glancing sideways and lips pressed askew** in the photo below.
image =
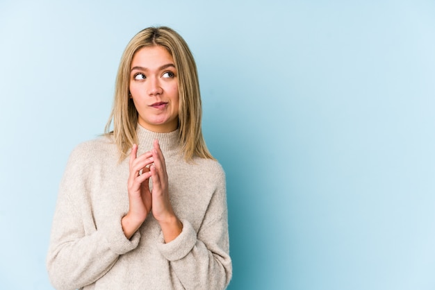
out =
<path fill-rule="evenodd" d="M 142 127 L 158 133 L 177 129 L 177 69 L 163 46 L 146 46 L 136 51 L 130 68 L 130 94 Z"/>

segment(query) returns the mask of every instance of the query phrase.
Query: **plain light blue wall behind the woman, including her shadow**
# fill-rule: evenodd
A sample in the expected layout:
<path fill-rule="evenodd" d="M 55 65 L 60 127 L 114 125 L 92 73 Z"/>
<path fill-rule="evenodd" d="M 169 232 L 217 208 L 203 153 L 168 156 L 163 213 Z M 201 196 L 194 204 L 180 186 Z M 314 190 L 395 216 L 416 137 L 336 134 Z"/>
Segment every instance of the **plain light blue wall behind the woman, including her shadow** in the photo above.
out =
<path fill-rule="evenodd" d="M 268 3 L 270 2 L 270 3 Z M 72 148 L 167 25 L 227 172 L 229 289 L 435 289 L 434 1 L 0 1 L 0 288 L 45 269 Z"/>

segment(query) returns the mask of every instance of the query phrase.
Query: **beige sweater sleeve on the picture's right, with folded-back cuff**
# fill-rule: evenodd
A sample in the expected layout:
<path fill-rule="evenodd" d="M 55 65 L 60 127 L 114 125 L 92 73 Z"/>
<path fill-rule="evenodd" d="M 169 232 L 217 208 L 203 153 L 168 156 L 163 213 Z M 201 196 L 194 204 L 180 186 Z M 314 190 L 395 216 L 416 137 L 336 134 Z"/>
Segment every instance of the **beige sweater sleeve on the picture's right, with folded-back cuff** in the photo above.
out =
<path fill-rule="evenodd" d="M 171 271 L 185 289 L 225 289 L 232 275 L 225 176 L 217 176 L 217 188 L 208 205 L 198 232 L 182 219 L 179 237 L 165 244 L 161 234 L 158 245 L 170 261 Z"/>

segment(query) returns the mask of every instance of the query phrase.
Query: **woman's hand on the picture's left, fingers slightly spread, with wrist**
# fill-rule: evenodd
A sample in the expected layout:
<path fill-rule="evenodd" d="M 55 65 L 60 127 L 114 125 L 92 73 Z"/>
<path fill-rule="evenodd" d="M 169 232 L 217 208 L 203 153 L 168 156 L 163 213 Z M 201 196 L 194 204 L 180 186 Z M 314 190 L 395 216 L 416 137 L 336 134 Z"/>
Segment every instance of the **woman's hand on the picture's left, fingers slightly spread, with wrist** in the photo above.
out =
<path fill-rule="evenodd" d="M 151 172 L 147 167 L 153 163 L 151 152 L 146 152 L 139 157 L 138 145 L 133 144 L 129 160 L 129 212 L 122 218 L 122 230 L 127 239 L 140 228 L 151 211 L 151 191 L 149 190 L 149 178 Z"/>

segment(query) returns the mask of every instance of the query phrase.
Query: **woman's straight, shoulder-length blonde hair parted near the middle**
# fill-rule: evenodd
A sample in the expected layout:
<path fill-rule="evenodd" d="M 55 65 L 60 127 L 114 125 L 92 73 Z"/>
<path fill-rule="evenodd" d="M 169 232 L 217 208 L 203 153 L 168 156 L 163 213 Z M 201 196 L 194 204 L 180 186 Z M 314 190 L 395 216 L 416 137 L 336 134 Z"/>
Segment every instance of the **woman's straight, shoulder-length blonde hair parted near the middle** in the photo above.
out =
<path fill-rule="evenodd" d="M 106 135 L 113 135 L 120 151 L 120 160 L 137 144 L 138 111 L 129 98 L 130 69 L 133 56 L 145 46 L 163 46 L 174 58 L 179 89 L 179 137 L 185 160 L 193 157 L 214 159 L 202 135 L 202 102 L 199 92 L 197 67 L 183 37 L 166 26 L 149 27 L 136 34 L 122 54 L 115 83 L 115 99 L 106 128 Z M 110 125 L 113 123 L 113 131 Z"/>

